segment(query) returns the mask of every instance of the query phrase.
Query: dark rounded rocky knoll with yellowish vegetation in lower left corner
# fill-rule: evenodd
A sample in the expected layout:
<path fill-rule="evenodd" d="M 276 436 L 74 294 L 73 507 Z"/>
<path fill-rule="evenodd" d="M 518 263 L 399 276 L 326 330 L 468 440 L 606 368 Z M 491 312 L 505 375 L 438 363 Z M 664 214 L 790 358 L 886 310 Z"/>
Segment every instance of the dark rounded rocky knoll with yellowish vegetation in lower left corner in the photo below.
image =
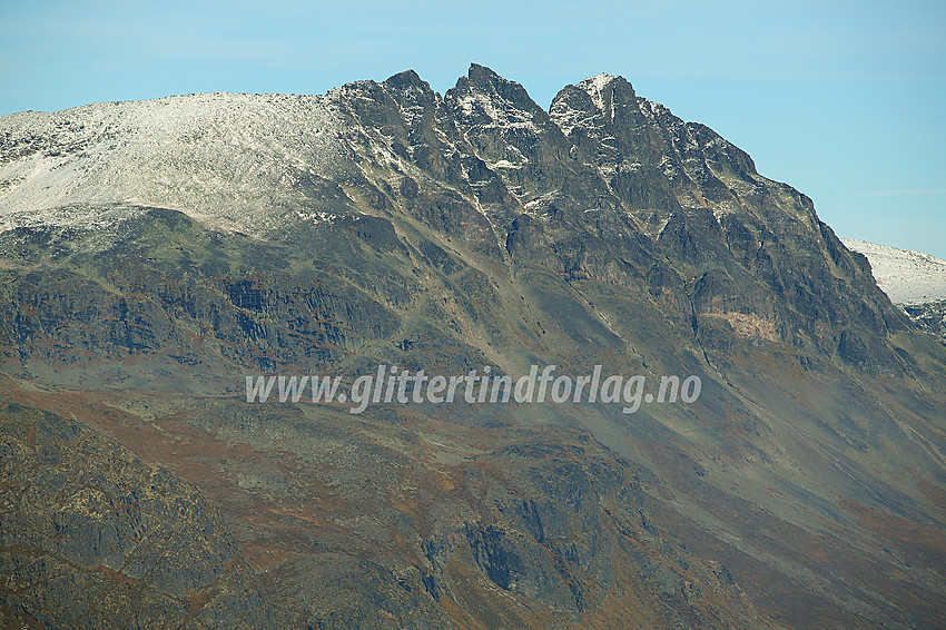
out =
<path fill-rule="evenodd" d="M 0 623 L 276 628 L 220 515 L 81 423 L 0 408 Z"/>

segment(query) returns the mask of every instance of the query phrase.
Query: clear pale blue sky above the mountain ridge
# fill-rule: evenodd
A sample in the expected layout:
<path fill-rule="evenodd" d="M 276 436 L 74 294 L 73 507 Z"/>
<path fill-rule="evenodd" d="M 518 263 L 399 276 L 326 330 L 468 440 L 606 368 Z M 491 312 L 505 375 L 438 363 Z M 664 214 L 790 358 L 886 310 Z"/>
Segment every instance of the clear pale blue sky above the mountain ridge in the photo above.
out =
<path fill-rule="evenodd" d="M 946 258 L 946 1 L 0 0 L 0 115 L 198 91 L 322 93 L 471 61 L 543 107 L 621 75 L 840 236 Z"/>

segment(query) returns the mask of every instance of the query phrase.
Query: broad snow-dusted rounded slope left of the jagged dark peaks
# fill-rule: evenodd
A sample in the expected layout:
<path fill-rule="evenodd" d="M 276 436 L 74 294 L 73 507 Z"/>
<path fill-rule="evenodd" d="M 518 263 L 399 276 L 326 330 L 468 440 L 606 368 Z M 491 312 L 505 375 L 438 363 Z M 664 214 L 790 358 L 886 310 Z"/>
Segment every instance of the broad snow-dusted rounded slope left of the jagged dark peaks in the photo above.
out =
<path fill-rule="evenodd" d="M 0 118 L 3 223 L 51 208 L 129 203 L 250 232 L 331 177 L 344 127 L 328 96 L 201 93 Z M 274 124 L 276 122 L 276 124 Z M 18 216 L 11 217 L 10 213 Z"/>

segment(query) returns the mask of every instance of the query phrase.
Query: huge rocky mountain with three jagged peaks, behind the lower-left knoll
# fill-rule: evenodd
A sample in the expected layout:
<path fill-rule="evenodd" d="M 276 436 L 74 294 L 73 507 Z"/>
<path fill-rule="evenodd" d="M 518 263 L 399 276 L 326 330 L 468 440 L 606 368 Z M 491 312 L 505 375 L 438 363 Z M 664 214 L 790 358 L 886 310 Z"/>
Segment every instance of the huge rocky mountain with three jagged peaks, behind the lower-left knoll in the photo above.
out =
<path fill-rule="evenodd" d="M 942 622 L 946 351 L 810 199 L 620 77 L 549 111 L 474 65 L 443 96 L 406 71 L 9 116 L 0 206 L 6 397 L 201 493 L 175 524 L 213 544 L 161 557 L 199 606 L 136 587 L 141 626 Z M 380 363 L 703 386 L 634 415 L 240 400 L 246 374 Z M 58 508 L 11 505 L 52 535 Z M 109 523 L 69 553 L 120 572 L 139 534 Z M 69 626 L 78 591 L 49 588 L 4 614 Z"/>

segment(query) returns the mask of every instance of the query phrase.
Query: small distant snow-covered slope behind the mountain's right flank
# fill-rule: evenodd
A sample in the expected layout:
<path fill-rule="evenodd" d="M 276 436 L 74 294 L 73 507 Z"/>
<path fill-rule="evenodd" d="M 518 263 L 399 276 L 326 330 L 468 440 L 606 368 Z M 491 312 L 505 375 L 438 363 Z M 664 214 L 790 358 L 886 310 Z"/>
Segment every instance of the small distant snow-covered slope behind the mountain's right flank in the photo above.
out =
<path fill-rule="evenodd" d="M 867 256 L 877 284 L 895 304 L 946 299 L 946 260 L 864 240 L 842 238 L 841 242 Z"/>

